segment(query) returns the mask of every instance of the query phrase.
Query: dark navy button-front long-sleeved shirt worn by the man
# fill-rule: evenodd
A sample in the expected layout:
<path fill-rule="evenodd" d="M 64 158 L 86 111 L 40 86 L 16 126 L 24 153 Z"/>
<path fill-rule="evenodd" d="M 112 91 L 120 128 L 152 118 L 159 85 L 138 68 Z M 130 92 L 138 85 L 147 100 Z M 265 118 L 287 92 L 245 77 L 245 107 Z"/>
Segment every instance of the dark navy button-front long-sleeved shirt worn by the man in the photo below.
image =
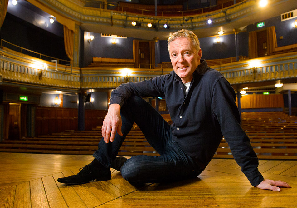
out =
<path fill-rule="evenodd" d="M 187 95 L 180 77 L 172 71 L 142 82 L 121 84 L 112 91 L 110 104 L 122 106 L 132 94 L 165 97 L 173 121 L 173 140 L 188 156 L 206 166 L 224 136 L 250 183 L 256 186 L 263 181 L 258 158 L 240 125 L 234 89 L 205 60 L 194 71 Z"/>

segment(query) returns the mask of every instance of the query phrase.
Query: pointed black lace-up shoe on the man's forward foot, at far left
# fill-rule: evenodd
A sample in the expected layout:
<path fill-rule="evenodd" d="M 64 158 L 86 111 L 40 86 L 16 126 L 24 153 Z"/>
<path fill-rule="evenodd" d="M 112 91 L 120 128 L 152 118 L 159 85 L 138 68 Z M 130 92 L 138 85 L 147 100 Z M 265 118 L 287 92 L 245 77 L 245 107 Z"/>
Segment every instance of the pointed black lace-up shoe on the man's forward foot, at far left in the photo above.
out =
<path fill-rule="evenodd" d="M 80 169 L 80 172 L 73 176 L 58 178 L 58 182 L 69 185 L 83 184 L 92 180 L 107 181 L 111 179 L 110 168 L 94 167 L 91 164 Z"/>

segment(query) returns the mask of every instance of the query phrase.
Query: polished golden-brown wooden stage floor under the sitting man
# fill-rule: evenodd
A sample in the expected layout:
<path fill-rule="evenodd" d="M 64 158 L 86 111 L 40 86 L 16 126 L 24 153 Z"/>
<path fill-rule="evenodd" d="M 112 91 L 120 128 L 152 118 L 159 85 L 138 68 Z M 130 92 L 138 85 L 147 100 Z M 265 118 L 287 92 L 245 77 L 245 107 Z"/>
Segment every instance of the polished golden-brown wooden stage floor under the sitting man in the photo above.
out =
<path fill-rule="evenodd" d="M 66 186 L 92 156 L 0 152 L 0 207 L 297 207 L 297 161 L 260 160 L 268 179 L 288 182 L 280 192 L 250 185 L 233 159 L 213 159 L 193 180 L 135 187 L 112 169 L 110 181 Z"/>

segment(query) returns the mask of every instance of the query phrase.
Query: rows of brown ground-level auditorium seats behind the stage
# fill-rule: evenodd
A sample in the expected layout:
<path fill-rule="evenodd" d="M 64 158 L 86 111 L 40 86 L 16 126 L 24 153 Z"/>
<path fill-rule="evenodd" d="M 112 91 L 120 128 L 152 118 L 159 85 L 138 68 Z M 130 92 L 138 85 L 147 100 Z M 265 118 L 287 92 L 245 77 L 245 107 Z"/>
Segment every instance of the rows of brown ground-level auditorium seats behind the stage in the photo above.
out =
<path fill-rule="evenodd" d="M 288 116 L 283 112 L 242 113 L 241 115 L 242 127 L 260 159 L 297 159 L 296 116 Z M 162 116 L 169 124 L 172 123 L 168 114 Z M 101 127 L 98 126 L 92 131 L 65 131 L 22 140 L 5 140 L 0 143 L 0 151 L 90 155 L 97 150 L 100 139 Z M 134 124 L 118 155 L 156 156 L 158 153 L 146 141 L 139 127 Z M 233 157 L 224 138 L 214 157 Z"/>

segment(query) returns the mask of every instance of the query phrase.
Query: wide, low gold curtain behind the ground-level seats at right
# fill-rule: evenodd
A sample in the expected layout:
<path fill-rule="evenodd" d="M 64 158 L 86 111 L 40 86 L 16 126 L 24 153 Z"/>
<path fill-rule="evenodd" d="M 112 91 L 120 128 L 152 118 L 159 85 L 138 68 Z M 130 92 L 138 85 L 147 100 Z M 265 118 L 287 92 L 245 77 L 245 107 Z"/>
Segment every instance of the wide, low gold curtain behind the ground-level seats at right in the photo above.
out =
<path fill-rule="evenodd" d="M 284 108 L 282 94 L 245 95 L 240 100 L 241 108 Z"/>

